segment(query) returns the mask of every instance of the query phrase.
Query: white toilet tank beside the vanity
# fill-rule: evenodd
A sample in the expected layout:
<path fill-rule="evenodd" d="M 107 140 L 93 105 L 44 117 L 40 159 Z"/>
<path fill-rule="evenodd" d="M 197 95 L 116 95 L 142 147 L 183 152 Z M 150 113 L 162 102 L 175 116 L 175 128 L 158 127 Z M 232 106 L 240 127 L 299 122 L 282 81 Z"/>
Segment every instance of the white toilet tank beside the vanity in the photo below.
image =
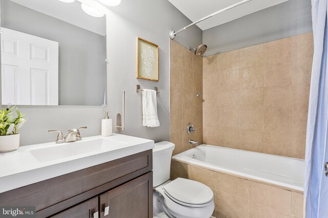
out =
<path fill-rule="evenodd" d="M 153 187 L 170 179 L 171 157 L 174 144 L 167 141 L 155 143 L 153 148 Z"/>

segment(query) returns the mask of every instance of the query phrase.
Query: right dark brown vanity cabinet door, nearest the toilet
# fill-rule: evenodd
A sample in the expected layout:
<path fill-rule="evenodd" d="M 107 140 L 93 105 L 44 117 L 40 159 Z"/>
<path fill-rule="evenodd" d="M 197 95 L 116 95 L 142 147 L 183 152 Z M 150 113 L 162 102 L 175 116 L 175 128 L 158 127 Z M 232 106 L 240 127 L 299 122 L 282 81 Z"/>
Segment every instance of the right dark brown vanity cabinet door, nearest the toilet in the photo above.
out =
<path fill-rule="evenodd" d="M 100 195 L 100 217 L 153 217 L 152 172 Z"/>

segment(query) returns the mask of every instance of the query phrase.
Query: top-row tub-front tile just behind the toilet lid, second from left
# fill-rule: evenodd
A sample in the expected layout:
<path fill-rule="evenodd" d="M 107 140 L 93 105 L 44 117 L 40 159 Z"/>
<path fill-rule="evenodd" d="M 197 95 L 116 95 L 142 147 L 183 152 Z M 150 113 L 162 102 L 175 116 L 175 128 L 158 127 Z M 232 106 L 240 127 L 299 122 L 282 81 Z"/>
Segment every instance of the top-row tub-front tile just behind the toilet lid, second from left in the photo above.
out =
<path fill-rule="evenodd" d="M 210 188 L 215 187 L 216 172 L 190 165 L 189 179 L 201 182 Z"/>

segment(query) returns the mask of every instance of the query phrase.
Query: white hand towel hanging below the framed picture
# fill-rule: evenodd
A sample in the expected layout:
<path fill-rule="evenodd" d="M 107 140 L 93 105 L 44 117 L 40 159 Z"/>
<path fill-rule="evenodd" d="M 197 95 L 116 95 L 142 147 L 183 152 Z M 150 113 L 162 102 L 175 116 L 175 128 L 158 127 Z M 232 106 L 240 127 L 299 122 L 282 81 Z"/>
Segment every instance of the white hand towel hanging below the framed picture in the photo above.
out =
<path fill-rule="evenodd" d="M 142 92 L 142 125 L 148 127 L 159 126 L 155 90 L 144 89 L 144 92 Z"/>

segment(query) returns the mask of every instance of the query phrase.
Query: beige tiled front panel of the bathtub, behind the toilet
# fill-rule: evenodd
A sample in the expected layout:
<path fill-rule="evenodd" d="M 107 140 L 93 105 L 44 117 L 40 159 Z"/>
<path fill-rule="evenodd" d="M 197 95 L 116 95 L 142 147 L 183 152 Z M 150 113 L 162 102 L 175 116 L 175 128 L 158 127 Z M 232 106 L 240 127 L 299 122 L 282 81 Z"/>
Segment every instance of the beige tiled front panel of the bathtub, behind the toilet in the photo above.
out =
<path fill-rule="evenodd" d="M 303 192 L 173 160 L 171 180 L 199 181 L 214 192 L 216 218 L 302 218 Z"/>

